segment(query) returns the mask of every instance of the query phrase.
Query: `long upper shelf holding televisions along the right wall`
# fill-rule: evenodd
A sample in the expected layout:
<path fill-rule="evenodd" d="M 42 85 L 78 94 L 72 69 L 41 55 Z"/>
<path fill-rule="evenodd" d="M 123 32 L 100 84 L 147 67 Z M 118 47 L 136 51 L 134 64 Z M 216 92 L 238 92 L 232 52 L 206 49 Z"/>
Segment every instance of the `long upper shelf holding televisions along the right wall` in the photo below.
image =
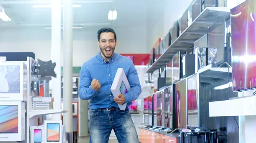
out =
<path fill-rule="evenodd" d="M 187 27 L 174 42 L 172 42 L 157 61 L 148 68 L 147 73 L 153 73 L 155 70 L 163 67 L 166 62 L 172 61 L 172 57 L 178 51 L 185 53 L 188 50 L 192 50 L 194 42 L 207 34 L 209 26 L 223 16 L 225 16 L 226 20 L 230 18 L 230 8 L 205 8 L 192 24 Z"/>

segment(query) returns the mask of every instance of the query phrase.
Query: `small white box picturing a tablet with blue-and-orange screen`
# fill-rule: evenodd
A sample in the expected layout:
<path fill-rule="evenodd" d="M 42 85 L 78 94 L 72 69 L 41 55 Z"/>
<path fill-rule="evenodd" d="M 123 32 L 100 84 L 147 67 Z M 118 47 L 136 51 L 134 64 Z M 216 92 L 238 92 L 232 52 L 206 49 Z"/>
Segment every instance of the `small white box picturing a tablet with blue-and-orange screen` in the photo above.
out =
<path fill-rule="evenodd" d="M 62 121 L 44 121 L 44 143 L 62 143 Z"/>

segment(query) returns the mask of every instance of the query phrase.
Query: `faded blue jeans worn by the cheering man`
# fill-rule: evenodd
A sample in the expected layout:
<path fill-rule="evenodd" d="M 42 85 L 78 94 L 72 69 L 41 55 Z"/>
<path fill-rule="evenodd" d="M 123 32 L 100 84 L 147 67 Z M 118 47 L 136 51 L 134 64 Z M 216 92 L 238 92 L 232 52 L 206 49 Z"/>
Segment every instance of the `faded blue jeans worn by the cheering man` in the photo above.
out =
<path fill-rule="evenodd" d="M 119 143 L 139 143 L 128 108 L 116 111 L 91 109 L 90 143 L 108 143 L 112 129 Z"/>

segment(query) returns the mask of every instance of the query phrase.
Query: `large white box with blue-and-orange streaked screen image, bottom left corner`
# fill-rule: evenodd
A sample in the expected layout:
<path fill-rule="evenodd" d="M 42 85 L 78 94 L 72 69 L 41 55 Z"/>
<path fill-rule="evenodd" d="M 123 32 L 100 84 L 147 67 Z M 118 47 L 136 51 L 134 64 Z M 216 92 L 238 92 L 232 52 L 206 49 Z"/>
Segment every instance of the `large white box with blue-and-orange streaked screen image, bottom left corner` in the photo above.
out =
<path fill-rule="evenodd" d="M 0 142 L 25 140 L 25 103 L 0 101 Z"/>

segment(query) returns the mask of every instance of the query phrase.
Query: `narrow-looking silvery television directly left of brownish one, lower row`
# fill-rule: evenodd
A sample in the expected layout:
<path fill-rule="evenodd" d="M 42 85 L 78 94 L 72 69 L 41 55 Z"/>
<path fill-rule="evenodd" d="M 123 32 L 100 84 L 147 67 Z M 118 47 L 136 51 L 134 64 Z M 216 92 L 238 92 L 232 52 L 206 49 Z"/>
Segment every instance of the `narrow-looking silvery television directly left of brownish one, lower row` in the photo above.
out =
<path fill-rule="evenodd" d="M 173 129 L 173 86 L 166 87 L 165 90 L 165 128 Z"/>

